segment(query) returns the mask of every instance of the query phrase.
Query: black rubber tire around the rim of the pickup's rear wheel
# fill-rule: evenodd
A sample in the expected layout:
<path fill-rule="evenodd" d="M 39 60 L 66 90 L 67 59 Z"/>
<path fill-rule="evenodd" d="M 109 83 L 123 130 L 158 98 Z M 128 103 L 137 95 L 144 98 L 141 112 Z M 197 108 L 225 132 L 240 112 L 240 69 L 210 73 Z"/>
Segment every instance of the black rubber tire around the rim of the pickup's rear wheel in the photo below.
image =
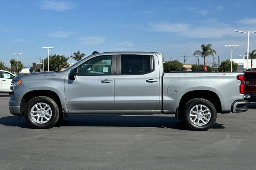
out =
<path fill-rule="evenodd" d="M 208 121 L 208 123 L 206 123 L 206 125 L 198 126 L 198 125 L 195 125 L 190 120 L 190 110 L 196 105 L 204 105 L 204 106 L 208 107 L 208 109 L 210 110 L 210 120 Z M 198 120 L 198 119 L 196 119 L 196 120 Z M 216 109 L 215 109 L 214 105 L 206 99 L 195 98 L 195 99 L 188 101 L 185 105 L 184 112 L 183 112 L 183 120 L 184 120 L 183 122 L 185 123 L 185 125 L 187 127 L 191 128 L 193 130 L 208 130 L 209 128 L 211 128 L 214 125 L 216 119 L 217 119 Z M 205 120 L 206 119 L 204 119 L 204 121 Z M 198 122 L 202 123 L 202 121 L 198 121 Z"/>

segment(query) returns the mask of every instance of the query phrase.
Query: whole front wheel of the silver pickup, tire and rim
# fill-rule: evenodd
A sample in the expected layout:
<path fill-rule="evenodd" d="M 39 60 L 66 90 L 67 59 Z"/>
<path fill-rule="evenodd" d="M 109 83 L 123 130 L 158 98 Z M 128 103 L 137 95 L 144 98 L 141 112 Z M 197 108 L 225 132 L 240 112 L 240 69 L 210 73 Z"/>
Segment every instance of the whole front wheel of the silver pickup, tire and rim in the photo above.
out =
<path fill-rule="evenodd" d="M 59 115 L 58 105 L 50 97 L 35 97 L 26 105 L 25 119 L 34 128 L 53 127 Z"/>

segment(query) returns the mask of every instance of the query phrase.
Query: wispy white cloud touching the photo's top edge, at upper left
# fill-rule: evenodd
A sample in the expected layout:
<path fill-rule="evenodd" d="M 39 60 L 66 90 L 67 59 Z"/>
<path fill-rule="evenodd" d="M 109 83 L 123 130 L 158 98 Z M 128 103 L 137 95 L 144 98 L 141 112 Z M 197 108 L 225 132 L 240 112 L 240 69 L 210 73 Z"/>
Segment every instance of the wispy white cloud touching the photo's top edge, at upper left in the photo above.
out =
<path fill-rule="evenodd" d="M 47 0 L 43 1 L 39 8 L 42 10 L 54 10 L 54 11 L 65 11 L 65 10 L 72 10 L 74 9 L 75 5 L 73 2 L 70 1 L 53 1 Z"/>

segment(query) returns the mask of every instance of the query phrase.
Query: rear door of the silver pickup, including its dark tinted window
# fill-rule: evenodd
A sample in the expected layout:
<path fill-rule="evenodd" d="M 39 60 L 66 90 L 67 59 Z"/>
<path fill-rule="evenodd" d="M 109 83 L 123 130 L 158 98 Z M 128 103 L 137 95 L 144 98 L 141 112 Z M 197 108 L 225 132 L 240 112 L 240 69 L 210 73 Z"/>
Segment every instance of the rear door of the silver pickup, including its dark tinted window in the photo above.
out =
<path fill-rule="evenodd" d="M 115 78 L 116 110 L 147 113 L 158 110 L 159 103 L 158 57 L 146 54 L 118 55 Z"/>

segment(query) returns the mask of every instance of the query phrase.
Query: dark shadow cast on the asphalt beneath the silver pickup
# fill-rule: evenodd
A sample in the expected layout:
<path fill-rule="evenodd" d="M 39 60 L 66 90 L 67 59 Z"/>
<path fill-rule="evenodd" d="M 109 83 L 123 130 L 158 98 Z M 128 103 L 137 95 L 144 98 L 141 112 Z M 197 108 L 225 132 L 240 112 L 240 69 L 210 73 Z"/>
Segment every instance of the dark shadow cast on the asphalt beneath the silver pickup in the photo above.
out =
<path fill-rule="evenodd" d="M 9 127 L 31 128 L 24 119 L 18 120 L 17 116 L 0 118 L 0 124 Z M 122 116 L 122 115 L 93 115 L 93 116 L 68 116 L 56 123 L 54 127 L 158 127 L 178 130 L 189 130 L 175 117 L 163 116 Z M 215 123 L 212 128 L 225 128 L 222 124 Z"/>

